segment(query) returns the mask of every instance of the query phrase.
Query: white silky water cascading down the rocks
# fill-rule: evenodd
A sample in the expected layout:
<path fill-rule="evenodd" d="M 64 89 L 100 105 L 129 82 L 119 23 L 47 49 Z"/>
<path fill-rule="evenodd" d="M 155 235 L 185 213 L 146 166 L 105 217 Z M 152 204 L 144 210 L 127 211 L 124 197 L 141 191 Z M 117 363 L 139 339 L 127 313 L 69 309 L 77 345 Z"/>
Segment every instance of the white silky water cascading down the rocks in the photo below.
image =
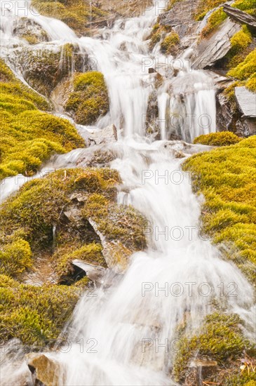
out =
<path fill-rule="evenodd" d="M 213 312 L 213 302 L 240 314 L 248 336 L 253 328 L 252 288 L 201 236 L 201 201 L 168 142 L 173 128 L 187 141 L 215 131 L 213 84 L 206 73 L 191 72 L 186 66 L 164 81 L 156 91 L 161 140 L 151 142 L 144 138 L 143 119 L 155 77 L 142 63 L 144 58 L 154 62 L 145 41 L 156 19 L 154 9 L 140 18 L 116 21 L 112 29 L 102 31 L 101 39 L 79 39 L 62 22 L 29 17 L 36 18 L 50 36 L 47 46 L 65 41 L 79 44 L 105 74 L 110 112 L 97 126 L 114 123 L 124 131 L 123 138 L 111 145 L 116 153 L 112 168 L 120 172 L 126 186 L 119 193 L 119 203 L 135 206 L 149 220 L 147 250 L 130 258 L 126 273 L 119 279 L 112 277 L 112 286 L 81 296 L 65 331 L 67 345 L 47 355 L 60 364 L 60 385 L 175 385 L 170 372 L 177 330 L 183 326 L 192 335 L 203 317 Z M 5 55 L 6 51 L 15 55 L 14 44 L 25 44 L 13 36 L 14 19 L 10 11 L 2 21 Z M 50 161 L 48 167 L 74 167 L 88 151 L 74 150 Z M 20 176 L 20 185 L 23 182 Z M 17 184 L 6 179 L 1 188 L 5 198 Z M 104 280 L 109 282 L 109 277 Z M 3 369 L 1 384 L 6 386 L 18 385 L 20 374 L 28 371 L 25 363 L 13 368 L 8 358 Z"/>

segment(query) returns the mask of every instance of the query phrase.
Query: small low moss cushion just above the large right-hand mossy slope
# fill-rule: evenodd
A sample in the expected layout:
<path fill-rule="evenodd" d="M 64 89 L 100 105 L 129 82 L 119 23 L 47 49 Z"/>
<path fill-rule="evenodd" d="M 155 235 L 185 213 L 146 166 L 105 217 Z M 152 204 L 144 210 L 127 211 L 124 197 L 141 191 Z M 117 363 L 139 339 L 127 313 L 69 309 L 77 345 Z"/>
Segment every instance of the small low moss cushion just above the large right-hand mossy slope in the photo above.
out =
<path fill-rule="evenodd" d="M 194 143 L 201 143 L 202 145 L 213 145 L 213 146 L 227 146 L 234 145 L 241 141 L 234 133 L 230 131 L 222 131 L 220 133 L 210 133 L 206 135 L 199 135 L 194 139 Z"/>

